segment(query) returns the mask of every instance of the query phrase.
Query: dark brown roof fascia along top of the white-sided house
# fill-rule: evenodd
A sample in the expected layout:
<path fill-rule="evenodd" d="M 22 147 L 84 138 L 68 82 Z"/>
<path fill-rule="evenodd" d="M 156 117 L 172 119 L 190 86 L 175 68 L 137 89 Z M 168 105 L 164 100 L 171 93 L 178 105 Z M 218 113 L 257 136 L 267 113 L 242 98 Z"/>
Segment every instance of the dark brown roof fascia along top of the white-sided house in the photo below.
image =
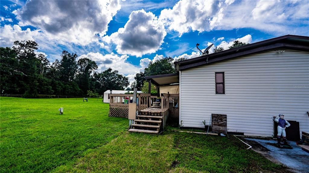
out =
<path fill-rule="evenodd" d="M 288 40 L 289 38 L 294 39 Z M 256 42 L 249 45 L 236 47 L 229 50 L 223 50 L 221 52 L 217 52 L 214 54 L 208 54 L 197 58 L 192 58 L 184 61 L 175 62 L 175 64 L 179 64 L 179 70 L 185 70 L 188 68 L 193 68 L 205 64 L 210 64 L 214 62 L 219 62 L 222 60 L 236 58 L 248 54 L 258 53 L 266 50 L 272 49 L 292 49 L 292 50 L 302 50 L 309 51 L 309 46 L 307 43 L 295 42 L 295 39 L 302 39 L 309 41 L 309 37 L 307 36 L 298 36 L 298 35 L 285 35 L 277 38 L 272 38 L 269 40 L 265 40 L 262 42 Z M 206 61 L 208 63 L 206 63 Z"/>

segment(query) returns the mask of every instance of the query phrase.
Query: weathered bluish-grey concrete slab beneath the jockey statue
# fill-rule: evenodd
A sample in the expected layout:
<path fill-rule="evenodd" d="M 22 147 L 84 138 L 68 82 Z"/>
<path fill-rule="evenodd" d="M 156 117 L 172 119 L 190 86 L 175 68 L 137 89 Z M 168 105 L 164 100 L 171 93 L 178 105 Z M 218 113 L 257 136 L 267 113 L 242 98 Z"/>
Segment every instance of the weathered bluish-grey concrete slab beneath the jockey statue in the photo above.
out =
<path fill-rule="evenodd" d="M 290 168 L 290 171 L 299 173 L 309 172 L 309 153 L 302 150 L 295 142 L 288 142 L 293 149 L 283 149 L 275 147 L 269 143 L 277 143 L 272 139 L 244 138 L 248 144 L 252 144 L 252 149 L 261 153 L 275 163 L 281 163 Z M 256 146 L 259 143 L 261 146 Z M 265 147 L 265 148 L 264 148 Z"/>

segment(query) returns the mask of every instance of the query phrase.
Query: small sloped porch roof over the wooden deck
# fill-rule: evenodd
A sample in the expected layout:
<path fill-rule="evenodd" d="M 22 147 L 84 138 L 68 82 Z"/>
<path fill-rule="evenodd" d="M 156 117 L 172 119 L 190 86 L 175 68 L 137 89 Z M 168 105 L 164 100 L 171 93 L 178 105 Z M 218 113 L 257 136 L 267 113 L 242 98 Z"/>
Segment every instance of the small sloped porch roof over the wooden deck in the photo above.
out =
<path fill-rule="evenodd" d="M 179 74 L 161 74 L 155 76 L 146 76 L 147 80 L 151 80 L 156 86 L 179 82 Z"/>

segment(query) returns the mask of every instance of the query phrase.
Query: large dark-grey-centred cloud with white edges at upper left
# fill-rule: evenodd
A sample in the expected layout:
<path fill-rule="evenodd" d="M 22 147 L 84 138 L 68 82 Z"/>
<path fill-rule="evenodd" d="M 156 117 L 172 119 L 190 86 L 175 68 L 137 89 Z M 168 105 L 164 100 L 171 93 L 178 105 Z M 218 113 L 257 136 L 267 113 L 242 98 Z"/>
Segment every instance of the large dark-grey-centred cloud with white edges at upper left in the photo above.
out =
<path fill-rule="evenodd" d="M 14 10 L 19 26 L 35 26 L 48 38 L 87 45 L 105 35 L 108 23 L 121 6 L 109 1 L 28 1 Z"/>

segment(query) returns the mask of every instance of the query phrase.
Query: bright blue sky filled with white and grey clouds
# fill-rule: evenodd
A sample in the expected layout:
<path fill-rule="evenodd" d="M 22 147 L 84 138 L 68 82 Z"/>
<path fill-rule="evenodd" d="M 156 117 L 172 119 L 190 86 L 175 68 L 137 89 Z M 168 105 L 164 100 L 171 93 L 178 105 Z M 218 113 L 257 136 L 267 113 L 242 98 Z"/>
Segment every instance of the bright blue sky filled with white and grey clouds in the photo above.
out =
<path fill-rule="evenodd" d="M 0 2 L 1 46 L 34 40 L 50 62 L 68 50 L 130 81 L 150 61 L 200 56 L 196 43 L 228 49 L 236 39 L 309 35 L 307 0 Z"/>

